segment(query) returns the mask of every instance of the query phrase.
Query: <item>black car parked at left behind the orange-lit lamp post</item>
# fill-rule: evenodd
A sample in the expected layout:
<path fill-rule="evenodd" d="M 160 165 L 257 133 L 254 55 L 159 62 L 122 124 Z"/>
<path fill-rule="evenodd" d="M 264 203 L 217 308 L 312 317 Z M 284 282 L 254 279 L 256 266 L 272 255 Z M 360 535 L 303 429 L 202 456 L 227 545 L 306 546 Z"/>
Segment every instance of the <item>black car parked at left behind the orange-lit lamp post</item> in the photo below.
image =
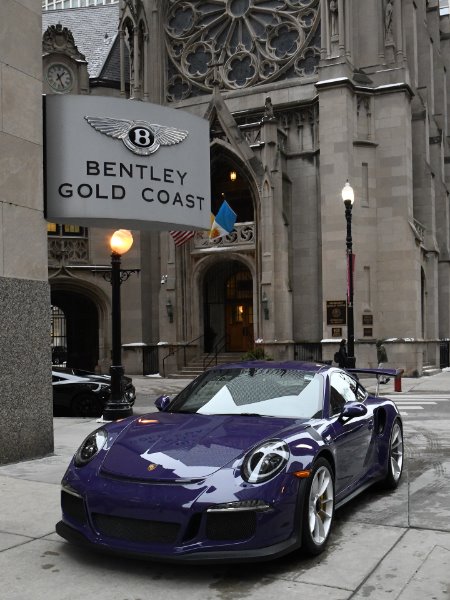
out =
<path fill-rule="evenodd" d="M 136 390 L 131 377 L 123 376 L 124 394 L 133 406 Z M 100 417 L 111 395 L 111 377 L 83 369 L 53 367 L 53 413 L 76 417 Z"/>

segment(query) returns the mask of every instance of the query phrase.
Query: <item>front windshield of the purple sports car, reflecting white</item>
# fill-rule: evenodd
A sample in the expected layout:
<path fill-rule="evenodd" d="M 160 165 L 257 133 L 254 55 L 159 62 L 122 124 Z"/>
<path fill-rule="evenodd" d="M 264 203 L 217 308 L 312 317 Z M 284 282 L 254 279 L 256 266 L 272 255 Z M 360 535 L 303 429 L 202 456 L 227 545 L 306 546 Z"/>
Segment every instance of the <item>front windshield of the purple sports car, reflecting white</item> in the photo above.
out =
<path fill-rule="evenodd" d="M 319 418 L 322 381 L 314 372 L 295 369 L 213 369 L 178 394 L 169 411 Z"/>

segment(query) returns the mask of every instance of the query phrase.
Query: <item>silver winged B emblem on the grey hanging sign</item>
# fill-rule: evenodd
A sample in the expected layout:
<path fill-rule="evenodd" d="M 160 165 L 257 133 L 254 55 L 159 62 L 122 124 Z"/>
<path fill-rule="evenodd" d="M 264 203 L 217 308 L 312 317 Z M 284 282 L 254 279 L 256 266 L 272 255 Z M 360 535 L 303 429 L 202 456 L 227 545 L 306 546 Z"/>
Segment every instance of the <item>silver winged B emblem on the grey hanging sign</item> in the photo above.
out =
<path fill-rule="evenodd" d="M 84 117 L 91 127 L 109 137 L 122 140 L 128 150 L 148 156 L 160 146 L 179 144 L 189 134 L 188 131 L 156 125 L 147 121 L 129 121 L 128 119 L 110 119 L 109 117 Z"/>

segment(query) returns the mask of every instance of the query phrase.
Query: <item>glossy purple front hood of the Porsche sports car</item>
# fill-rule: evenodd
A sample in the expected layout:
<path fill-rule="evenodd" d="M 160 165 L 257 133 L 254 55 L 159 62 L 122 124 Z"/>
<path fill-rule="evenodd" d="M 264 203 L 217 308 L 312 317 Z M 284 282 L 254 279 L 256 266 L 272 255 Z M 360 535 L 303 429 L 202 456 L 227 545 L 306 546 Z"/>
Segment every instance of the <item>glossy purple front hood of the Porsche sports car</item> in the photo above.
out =
<path fill-rule="evenodd" d="M 307 427 L 286 418 L 151 413 L 119 435 L 101 470 L 139 480 L 201 479 L 293 425 L 296 431 Z"/>

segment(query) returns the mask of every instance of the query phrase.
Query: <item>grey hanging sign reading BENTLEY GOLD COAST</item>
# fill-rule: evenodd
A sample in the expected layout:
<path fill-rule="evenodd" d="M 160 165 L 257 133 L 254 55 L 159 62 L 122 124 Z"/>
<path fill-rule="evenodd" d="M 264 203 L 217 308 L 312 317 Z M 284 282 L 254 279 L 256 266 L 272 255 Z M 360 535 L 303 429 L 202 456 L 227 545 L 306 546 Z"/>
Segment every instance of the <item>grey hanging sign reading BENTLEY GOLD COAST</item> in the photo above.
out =
<path fill-rule="evenodd" d="M 128 229 L 209 229 L 209 123 L 101 96 L 45 97 L 46 218 Z"/>

